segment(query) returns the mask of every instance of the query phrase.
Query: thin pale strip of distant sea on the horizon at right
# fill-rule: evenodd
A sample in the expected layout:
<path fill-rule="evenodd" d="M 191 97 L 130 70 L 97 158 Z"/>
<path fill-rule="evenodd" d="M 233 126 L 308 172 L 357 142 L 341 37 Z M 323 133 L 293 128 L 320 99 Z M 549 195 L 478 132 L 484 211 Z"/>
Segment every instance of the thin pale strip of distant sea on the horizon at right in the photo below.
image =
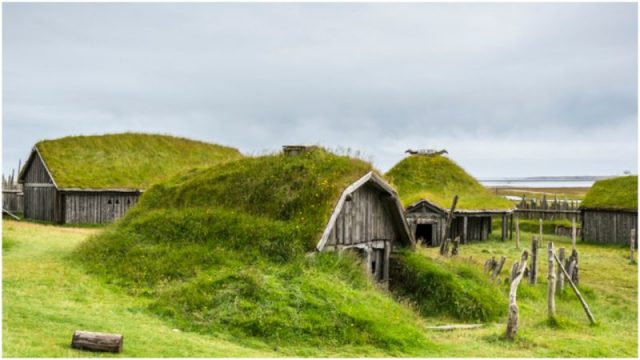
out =
<path fill-rule="evenodd" d="M 487 187 L 523 187 L 523 188 L 558 188 L 584 187 L 588 188 L 600 179 L 612 176 L 539 176 L 524 178 L 493 178 L 480 179 Z"/>

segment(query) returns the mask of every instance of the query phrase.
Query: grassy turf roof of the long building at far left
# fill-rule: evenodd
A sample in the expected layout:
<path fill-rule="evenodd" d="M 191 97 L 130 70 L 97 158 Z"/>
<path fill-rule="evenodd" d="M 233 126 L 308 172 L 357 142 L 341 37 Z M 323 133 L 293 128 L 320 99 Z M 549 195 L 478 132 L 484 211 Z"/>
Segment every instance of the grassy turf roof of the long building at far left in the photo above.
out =
<path fill-rule="evenodd" d="M 146 189 L 185 169 L 242 157 L 230 147 L 139 133 L 68 136 L 36 147 L 59 188 Z"/>

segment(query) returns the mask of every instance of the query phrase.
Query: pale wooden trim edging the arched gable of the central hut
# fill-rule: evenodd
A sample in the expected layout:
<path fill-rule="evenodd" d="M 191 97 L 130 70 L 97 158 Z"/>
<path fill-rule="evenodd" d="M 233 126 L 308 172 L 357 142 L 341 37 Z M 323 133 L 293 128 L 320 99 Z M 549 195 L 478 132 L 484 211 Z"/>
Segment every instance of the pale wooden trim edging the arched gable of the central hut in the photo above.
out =
<path fill-rule="evenodd" d="M 333 212 L 331 213 L 329 222 L 327 223 L 327 226 L 324 228 L 322 237 L 320 238 L 320 241 L 318 241 L 318 245 L 316 245 L 316 249 L 318 251 L 322 251 L 327 241 L 329 240 L 331 231 L 333 230 L 336 220 L 338 219 L 338 216 L 340 215 L 340 212 L 344 207 L 344 203 L 347 199 L 347 196 L 351 195 L 354 191 L 358 190 L 362 185 L 369 182 L 374 183 L 379 188 L 381 188 L 382 190 L 387 192 L 389 195 L 391 195 L 392 197 L 391 201 L 395 203 L 395 207 L 397 209 L 396 216 L 392 214 L 392 217 L 397 217 L 397 219 L 394 219 L 394 220 L 396 222 L 399 221 L 401 223 L 400 236 L 403 238 L 403 240 L 405 240 L 408 243 L 409 246 L 411 246 L 412 248 L 415 246 L 415 241 L 413 240 L 413 236 L 409 231 L 409 225 L 407 224 L 407 220 L 404 217 L 404 212 L 402 211 L 402 204 L 398 199 L 398 194 L 396 194 L 395 190 L 393 190 L 393 188 L 389 186 L 382 178 L 376 175 L 373 171 L 370 171 L 360 179 L 356 180 L 353 184 L 349 185 L 346 189 L 344 189 L 344 191 L 342 191 L 342 194 L 338 199 L 338 203 L 336 204 L 335 208 L 333 209 Z"/>

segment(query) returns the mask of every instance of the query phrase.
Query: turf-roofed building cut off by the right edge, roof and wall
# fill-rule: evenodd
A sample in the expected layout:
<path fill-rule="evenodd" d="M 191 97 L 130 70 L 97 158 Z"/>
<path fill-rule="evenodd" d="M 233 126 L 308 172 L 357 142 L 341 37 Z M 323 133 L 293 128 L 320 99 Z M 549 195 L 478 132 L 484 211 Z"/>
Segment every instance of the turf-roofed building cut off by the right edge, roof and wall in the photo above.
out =
<path fill-rule="evenodd" d="M 635 231 L 638 244 L 638 176 L 597 181 L 580 210 L 583 241 L 629 244 Z"/>

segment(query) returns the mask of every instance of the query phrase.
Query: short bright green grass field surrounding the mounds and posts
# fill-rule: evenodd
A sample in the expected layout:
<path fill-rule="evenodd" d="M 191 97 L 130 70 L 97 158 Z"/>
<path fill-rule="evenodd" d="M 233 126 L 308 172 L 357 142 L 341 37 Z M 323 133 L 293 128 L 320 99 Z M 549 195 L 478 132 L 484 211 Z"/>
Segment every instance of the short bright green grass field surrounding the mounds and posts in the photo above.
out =
<path fill-rule="evenodd" d="M 73 331 L 82 329 L 124 334 L 125 350 L 120 355 L 124 357 L 637 357 L 637 265 L 627 258 L 628 250 L 620 247 L 578 245 L 580 289 L 598 321 L 596 326 L 589 325 L 570 289 L 556 300 L 557 321 L 547 321 L 547 263 L 541 256 L 539 284 L 523 282 L 518 294 L 521 323 L 517 341 L 502 338 L 504 318 L 475 330 L 428 330 L 427 325 L 461 321 L 446 314 L 429 316 L 425 311 L 419 316 L 411 303 L 402 301 L 398 306 L 404 310 L 395 310 L 394 316 L 412 317 L 407 323 L 421 329 L 421 337 L 427 340 L 417 343 L 422 348 L 414 344 L 406 352 L 389 352 L 368 345 L 287 346 L 285 342 L 274 346 L 269 341 L 227 332 L 182 331 L 176 323 L 150 311 L 148 298 L 128 295 L 121 287 L 88 275 L 72 257 L 80 243 L 99 231 L 3 222 L 3 356 L 110 356 L 70 349 Z M 547 239 L 555 241 L 557 247 L 570 247 L 566 238 L 545 236 Z M 529 244 L 530 236 L 525 233 L 522 246 Z M 437 249 L 418 249 L 418 253 L 438 258 Z M 465 262 L 481 268 L 487 258 L 501 255 L 507 257 L 504 278 L 520 255 L 513 242 L 464 245 L 457 259 L 439 261 Z M 506 298 L 507 285 L 500 285 L 500 289 Z M 388 296 L 377 291 L 381 299 Z"/>

